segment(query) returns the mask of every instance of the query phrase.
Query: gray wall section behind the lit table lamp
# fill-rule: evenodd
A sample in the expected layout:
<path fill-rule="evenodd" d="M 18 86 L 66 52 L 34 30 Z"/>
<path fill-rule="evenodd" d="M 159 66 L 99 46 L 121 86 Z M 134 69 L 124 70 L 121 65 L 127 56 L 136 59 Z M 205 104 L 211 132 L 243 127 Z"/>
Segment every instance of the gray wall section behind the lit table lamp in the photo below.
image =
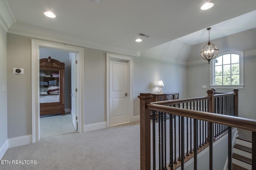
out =
<path fill-rule="evenodd" d="M 162 80 L 163 92 L 178 92 L 180 98 L 185 96 L 186 91 L 186 65 L 171 61 L 161 61 L 149 57 L 134 57 L 134 116 L 140 115 L 140 93 L 157 93 L 158 81 Z"/>

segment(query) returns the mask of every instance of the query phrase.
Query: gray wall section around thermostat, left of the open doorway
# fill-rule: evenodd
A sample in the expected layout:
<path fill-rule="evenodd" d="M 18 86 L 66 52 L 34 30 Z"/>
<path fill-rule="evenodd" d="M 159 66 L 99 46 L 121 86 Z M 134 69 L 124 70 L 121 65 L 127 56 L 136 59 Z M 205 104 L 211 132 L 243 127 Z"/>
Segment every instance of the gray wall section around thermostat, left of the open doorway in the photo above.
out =
<path fill-rule="evenodd" d="M 24 68 L 24 74 L 13 74 Z M 7 33 L 8 138 L 32 134 L 31 39 Z"/>

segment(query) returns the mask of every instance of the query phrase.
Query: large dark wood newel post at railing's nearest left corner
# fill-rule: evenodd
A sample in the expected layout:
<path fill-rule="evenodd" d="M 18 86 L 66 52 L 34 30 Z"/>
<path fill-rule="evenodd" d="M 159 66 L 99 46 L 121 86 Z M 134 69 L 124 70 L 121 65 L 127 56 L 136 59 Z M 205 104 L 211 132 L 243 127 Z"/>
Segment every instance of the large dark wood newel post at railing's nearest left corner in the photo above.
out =
<path fill-rule="evenodd" d="M 150 93 L 140 93 L 140 170 L 150 169 Z"/>

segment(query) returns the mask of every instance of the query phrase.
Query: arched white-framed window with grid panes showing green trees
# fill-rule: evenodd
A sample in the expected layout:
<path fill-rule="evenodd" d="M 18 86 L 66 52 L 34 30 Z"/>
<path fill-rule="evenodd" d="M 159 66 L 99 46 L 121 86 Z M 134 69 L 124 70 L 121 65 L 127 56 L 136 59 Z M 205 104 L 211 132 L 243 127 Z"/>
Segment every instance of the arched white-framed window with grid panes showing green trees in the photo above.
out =
<path fill-rule="evenodd" d="M 211 88 L 244 87 L 244 53 L 236 50 L 220 51 L 210 66 Z"/>

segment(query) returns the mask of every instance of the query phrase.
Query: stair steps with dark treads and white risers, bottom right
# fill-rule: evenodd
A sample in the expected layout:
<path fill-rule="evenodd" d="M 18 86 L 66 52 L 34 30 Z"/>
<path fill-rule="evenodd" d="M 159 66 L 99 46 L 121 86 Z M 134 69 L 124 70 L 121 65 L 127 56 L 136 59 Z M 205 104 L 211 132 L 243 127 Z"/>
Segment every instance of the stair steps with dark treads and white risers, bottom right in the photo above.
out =
<path fill-rule="evenodd" d="M 233 170 L 252 170 L 252 135 L 251 132 L 238 129 L 236 145 L 232 155 Z"/>

